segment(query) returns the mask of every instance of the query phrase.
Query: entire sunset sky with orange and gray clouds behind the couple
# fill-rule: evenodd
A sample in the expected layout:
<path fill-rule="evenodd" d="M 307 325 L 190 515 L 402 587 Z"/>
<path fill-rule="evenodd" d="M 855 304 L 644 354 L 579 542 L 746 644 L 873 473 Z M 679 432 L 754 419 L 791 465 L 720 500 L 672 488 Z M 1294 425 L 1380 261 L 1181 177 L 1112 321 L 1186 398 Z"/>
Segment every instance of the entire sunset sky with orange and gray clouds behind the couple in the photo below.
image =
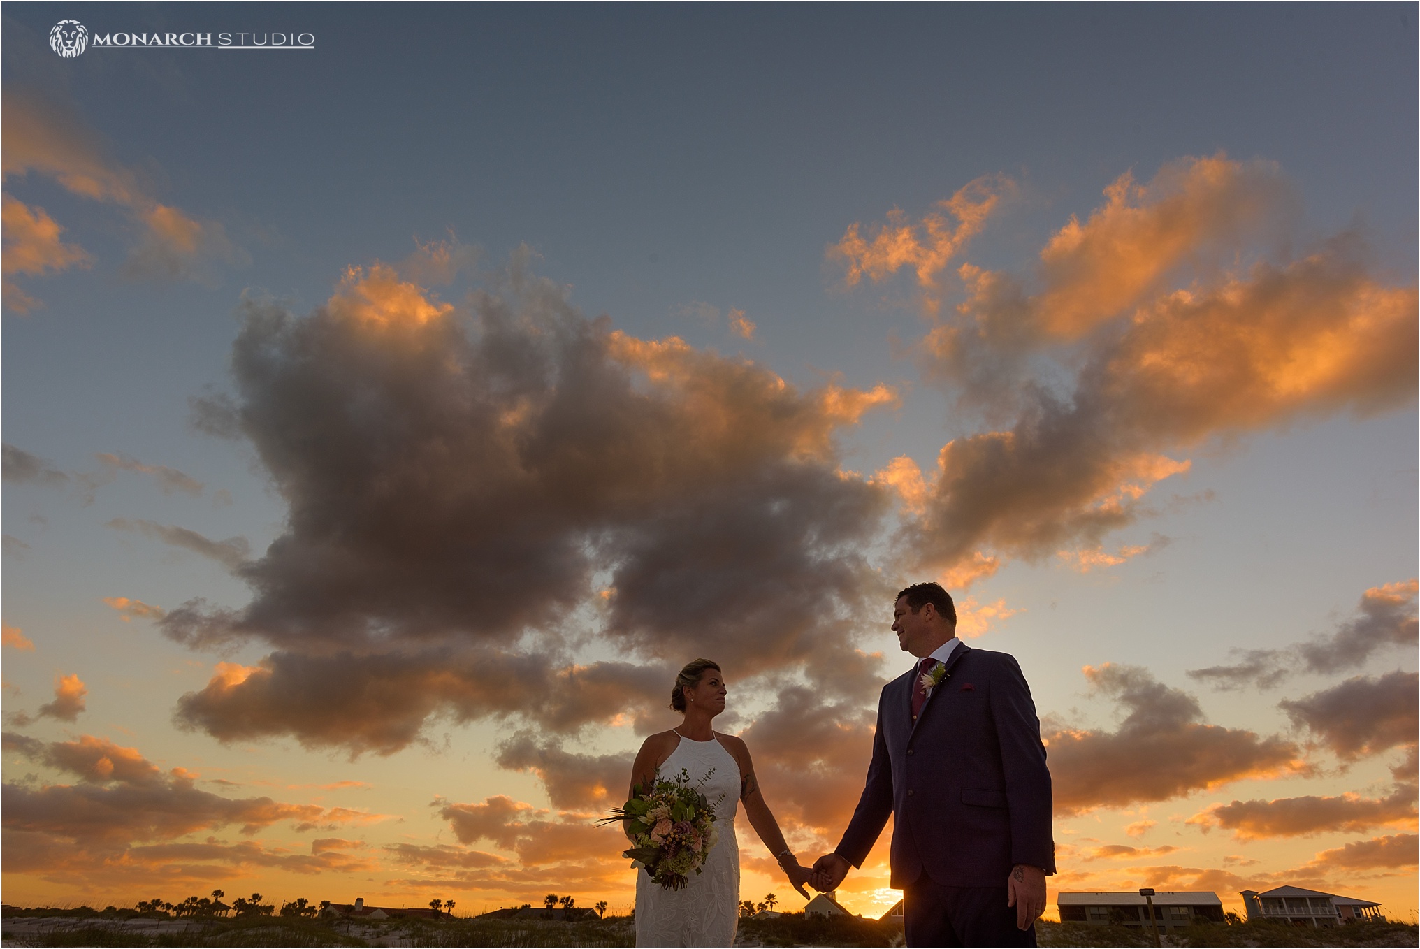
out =
<path fill-rule="evenodd" d="M 697 656 L 811 862 L 940 580 L 1051 915 L 1414 919 L 1413 4 L 0 16 L 6 902 L 629 909 Z"/>

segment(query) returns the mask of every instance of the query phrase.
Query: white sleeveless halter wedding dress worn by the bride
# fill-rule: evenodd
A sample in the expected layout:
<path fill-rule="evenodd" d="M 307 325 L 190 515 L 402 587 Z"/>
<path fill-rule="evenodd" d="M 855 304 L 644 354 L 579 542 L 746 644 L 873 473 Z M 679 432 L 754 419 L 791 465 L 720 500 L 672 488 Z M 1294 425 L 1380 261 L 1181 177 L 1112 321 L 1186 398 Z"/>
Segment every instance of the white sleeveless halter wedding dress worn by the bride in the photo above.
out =
<path fill-rule="evenodd" d="M 662 889 L 645 869 L 636 869 L 636 945 L 730 946 L 740 922 L 740 844 L 734 840 L 740 766 L 716 739 L 692 742 L 682 736 L 657 777 L 674 777 L 680 769 L 714 806 L 720 840 L 700 874 L 692 872 L 680 889 Z"/>

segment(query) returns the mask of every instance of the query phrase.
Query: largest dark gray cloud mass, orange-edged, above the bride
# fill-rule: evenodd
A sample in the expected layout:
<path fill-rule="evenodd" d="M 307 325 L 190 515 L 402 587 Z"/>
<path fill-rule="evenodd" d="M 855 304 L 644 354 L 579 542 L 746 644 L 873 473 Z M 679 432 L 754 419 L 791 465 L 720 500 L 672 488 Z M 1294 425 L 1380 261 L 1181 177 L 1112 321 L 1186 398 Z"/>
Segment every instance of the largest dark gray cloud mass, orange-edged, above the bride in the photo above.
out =
<path fill-rule="evenodd" d="M 182 722 L 392 752 L 436 715 L 640 715 L 694 655 L 741 680 L 863 669 L 851 639 L 892 594 L 865 553 L 889 497 L 839 469 L 835 439 L 893 394 L 799 391 L 588 320 L 517 261 L 503 280 L 453 307 L 375 266 L 304 317 L 246 307 L 236 394 L 199 421 L 251 442 L 287 527 L 258 558 L 231 551 L 248 604 L 160 625 L 274 649 L 185 696 Z M 575 663 L 589 635 L 629 662 Z"/>

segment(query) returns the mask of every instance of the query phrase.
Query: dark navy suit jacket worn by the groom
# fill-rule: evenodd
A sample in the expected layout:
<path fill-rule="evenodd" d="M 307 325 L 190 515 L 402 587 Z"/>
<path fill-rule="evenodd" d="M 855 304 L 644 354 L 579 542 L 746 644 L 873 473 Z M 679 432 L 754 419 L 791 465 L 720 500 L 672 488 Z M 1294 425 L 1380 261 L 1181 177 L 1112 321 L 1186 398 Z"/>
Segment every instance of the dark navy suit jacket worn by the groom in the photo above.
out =
<path fill-rule="evenodd" d="M 893 815 L 892 888 L 1004 886 L 1015 864 L 1055 872 L 1051 773 L 1015 658 L 957 646 L 917 720 L 917 669 L 883 686 L 863 796 L 836 852 L 862 867 Z"/>

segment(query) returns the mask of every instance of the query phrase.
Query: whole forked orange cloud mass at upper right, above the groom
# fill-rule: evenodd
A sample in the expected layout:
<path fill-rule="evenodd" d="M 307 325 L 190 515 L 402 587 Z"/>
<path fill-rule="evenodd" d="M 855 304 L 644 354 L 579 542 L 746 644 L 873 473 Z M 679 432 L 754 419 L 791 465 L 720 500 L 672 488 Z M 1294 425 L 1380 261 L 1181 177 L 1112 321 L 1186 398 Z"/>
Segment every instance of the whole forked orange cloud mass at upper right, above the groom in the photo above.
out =
<path fill-rule="evenodd" d="M 1123 557 L 1103 536 L 1153 514 L 1153 487 L 1189 470 L 1177 452 L 1410 405 L 1416 288 L 1375 280 L 1350 234 L 1265 259 L 1258 239 L 1285 233 L 1291 215 L 1275 166 L 1184 159 L 1146 186 L 1122 178 L 1086 222 L 1061 229 L 1035 294 L 961 264 L 966 298 L 929 307 L 917 358 L 987 428 L 949 443 L 920 486 L 906 465 L 882 473 L 913 514 L 900 540 L 914 567 L 1062 548 L 1103 564 Z M 888 273 L 906 260 L 893 249 L 916 247 L 902 233 L 853 259 Z"/>

